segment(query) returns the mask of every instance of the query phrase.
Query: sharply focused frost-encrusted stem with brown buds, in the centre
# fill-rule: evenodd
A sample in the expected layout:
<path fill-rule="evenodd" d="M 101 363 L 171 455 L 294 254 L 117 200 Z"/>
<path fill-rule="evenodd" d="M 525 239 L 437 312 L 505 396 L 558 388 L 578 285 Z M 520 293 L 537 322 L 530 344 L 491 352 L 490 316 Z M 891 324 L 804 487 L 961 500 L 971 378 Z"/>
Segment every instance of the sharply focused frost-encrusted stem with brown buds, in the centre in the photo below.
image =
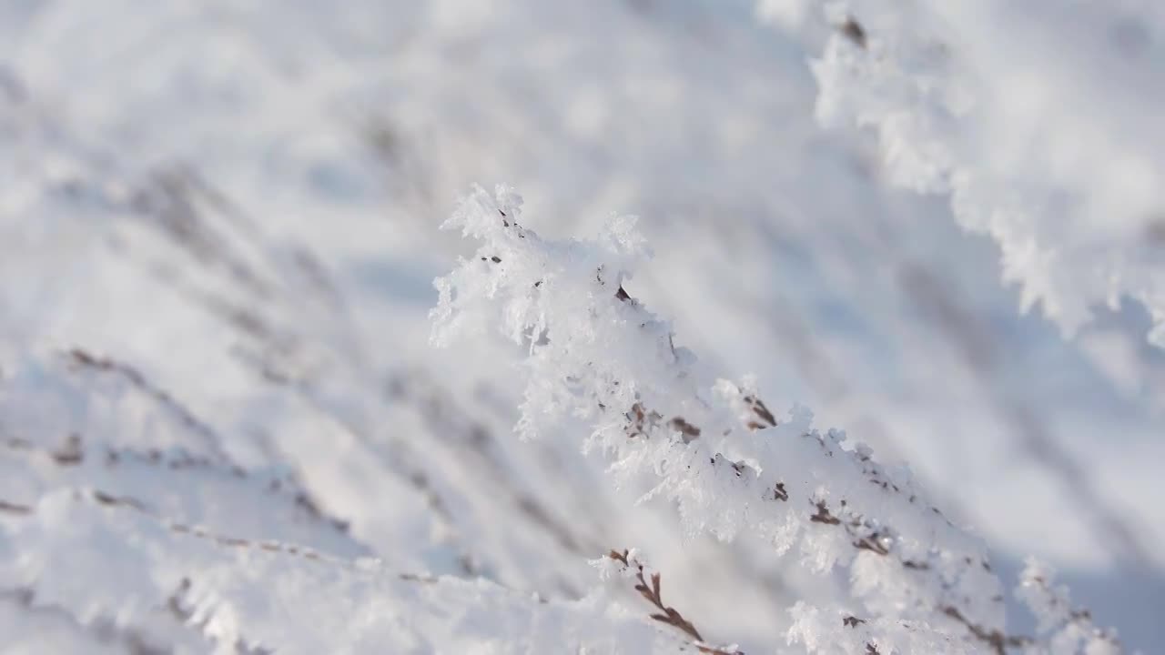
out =
<path fill-rule="evenodd" d="M 593 241 L 522 226 L 521 198 L 476 189 L 446 223 L 481 241 L 440 291 L 433 341 L 492 325 L 527 348 L 524 438 L 591 425 L 581 444 L 616 479 L 649 474 L 690 534 L 751 530 L 817 572 L 848 568 L 845 607 L 791 610 L 791 642 L 814 653 L 1002 653 L 1002 585 L 980 540 L 944 517 L 903 469 L 824 434 L 795 407 L 775 415 L 756 383 L 700 379 L 670 325 L 624 288 L 648 258 L 634 219 Z M 644 583 L 645 585 L 645 583 Z"/>

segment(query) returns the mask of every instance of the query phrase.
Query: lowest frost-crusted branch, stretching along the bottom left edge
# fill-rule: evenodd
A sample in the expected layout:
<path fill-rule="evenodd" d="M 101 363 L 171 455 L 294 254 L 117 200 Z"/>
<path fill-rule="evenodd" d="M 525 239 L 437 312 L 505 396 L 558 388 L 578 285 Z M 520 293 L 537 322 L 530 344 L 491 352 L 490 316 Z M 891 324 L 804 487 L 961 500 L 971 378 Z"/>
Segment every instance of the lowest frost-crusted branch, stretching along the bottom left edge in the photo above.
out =
<path fill-rule="evenodd" d="M 29 611 L 114 628 L 168 622 L 219 653 L 676 650 L 601 597 L 544 601 L 485 579 L 183 529 L 96 491 L 0 513 L 0 594 L 17 593 Z"/>

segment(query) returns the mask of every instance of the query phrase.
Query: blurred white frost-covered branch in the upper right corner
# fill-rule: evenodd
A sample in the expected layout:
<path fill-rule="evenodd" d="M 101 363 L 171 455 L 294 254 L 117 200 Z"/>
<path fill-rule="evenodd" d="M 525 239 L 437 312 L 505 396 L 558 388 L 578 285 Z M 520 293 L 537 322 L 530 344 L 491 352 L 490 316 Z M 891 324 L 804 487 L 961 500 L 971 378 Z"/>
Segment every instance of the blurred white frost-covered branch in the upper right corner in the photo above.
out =
<path fill-rule="evenodd" d="M 1165 98 L 1148 50 L 1160 9 L 792 3 L 835 28 L 812 63 L 819 120 L 870 131 L 891 183 L 949 196 L 963 228 L 998 244 L 1025 310 L 1071 334 L 1132 298 L 1165 346 Z"/>

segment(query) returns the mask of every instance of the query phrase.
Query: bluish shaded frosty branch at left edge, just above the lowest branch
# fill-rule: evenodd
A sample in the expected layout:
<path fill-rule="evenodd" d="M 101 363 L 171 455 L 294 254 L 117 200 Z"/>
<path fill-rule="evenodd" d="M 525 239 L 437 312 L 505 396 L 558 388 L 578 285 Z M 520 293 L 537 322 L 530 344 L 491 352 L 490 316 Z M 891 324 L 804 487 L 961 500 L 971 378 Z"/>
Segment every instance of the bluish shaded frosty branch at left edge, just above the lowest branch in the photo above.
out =
<path fill-rule="evenodd" d="M 0 380 L 0 466 L 14 505 L 97 488 L 178 523 L 367 554 L 289 471 L 239 465 L 213 428 L 142 373 L 77 348 L 27 357 Z"/>

